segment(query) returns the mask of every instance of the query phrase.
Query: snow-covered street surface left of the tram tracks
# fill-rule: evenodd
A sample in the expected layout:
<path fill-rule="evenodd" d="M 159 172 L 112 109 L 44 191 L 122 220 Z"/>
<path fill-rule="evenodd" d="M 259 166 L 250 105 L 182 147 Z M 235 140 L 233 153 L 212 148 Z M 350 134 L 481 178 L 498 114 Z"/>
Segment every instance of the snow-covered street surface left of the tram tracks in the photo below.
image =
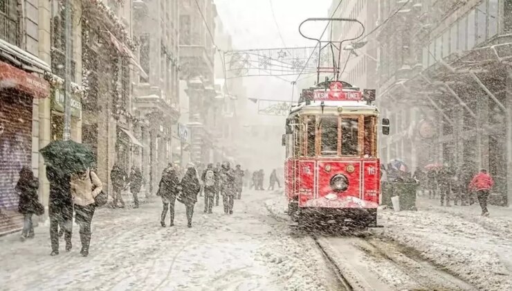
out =
<path fill-rule="evenodd" d="M 79 254 L 77 225 L 73 250 L 64 252 L 61 240 L 55 257 L 47 227 L 37 227 L 24 243 L 19 233 L 1 237 L 0 289 L 340 290 L 313 240 L 293 238 L 285 223 L 268 215 L 263 202 L 277 196 L 244 193 L 231 216 L 221 206 L 207 215 L 200 201 L 192 229 L 179 202 L 175 226 L 166 228 L 158 198 L 140 209 L 100 209 L 87 258 Z"/>

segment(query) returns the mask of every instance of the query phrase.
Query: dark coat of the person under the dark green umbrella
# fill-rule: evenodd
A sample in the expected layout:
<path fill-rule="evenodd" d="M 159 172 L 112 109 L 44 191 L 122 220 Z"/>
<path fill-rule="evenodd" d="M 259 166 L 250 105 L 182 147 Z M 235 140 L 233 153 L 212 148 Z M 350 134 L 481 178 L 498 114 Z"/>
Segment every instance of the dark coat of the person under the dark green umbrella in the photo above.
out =
<path fill-rule="evenodd" d="M 50 182 L 50 195 L 48 199 L 49 214 L 60 213 L 62 210 L 73 209 L 71 197 L 71 176 L 62 173 L 59 168 L 46 166 L 46 178 Z"/>

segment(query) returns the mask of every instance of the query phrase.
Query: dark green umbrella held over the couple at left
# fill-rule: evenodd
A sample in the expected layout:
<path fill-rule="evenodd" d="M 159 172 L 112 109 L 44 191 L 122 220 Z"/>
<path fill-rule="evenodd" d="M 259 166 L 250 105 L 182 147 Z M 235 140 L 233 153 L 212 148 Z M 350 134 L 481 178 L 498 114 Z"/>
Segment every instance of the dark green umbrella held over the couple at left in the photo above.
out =
<path fill-rule="evenodd" d="M 93 151 L 75 141 L 51 141 L 40 150 L 46 164 L 62 170 L 64 174 L 79 173 L 96 164 Z"/>

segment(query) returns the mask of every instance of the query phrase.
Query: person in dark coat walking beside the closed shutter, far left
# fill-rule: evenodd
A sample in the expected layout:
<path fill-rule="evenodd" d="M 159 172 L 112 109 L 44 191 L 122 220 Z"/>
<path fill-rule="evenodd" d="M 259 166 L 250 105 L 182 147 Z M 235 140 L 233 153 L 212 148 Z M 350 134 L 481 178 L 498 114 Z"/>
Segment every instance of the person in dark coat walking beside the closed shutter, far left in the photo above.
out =
<path fill-rule="evenodd" d="M 15 191 L 19 195 L 18 211 L 23 214 L 24 220 L 21 241 L 34 237 L 32 215 L 40 212 L 39 209 L 42 207 L 37 198 L 37 188 L 39 188 L 39 181 L 34 177 L 32 170 L 27 166 L 21 168 L 15 187 Z"/>

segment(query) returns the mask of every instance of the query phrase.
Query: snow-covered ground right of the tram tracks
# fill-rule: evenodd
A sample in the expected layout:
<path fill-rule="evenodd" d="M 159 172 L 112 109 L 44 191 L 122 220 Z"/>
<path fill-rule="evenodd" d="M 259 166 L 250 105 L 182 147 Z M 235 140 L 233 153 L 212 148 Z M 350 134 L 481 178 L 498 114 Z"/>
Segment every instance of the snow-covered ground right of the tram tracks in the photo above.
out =
<path fill-rule="evenodd" d="M 482 288 L 512 290 L 510 209 L 491 206 L 491 217 L 479 206 L 439 206 L 420 197 L 418 211 L 379 211 L 383 229 L 374 233 L 417 249 L 448 272 Z"/>

